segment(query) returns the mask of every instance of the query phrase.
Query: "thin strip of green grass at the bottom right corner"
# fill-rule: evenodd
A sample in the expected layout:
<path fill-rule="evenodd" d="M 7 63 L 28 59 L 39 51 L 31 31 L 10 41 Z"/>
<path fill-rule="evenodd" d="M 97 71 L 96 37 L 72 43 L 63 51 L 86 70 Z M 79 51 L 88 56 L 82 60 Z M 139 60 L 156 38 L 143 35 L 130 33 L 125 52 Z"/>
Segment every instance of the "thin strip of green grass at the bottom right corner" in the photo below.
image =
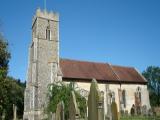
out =
<path fill-rule="evenodd" d="M 120 120 L 160 120 L 160 116 L 123 116 Z"/>

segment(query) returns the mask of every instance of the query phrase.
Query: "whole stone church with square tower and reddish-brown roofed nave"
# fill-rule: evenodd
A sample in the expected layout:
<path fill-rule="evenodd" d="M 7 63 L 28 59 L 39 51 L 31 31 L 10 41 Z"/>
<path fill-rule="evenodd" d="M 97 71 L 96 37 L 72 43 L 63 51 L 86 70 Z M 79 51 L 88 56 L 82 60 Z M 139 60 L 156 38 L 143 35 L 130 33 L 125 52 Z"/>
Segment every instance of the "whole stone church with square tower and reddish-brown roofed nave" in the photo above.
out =
<path fill-rule="evenodd" d="M 96 79 L 104 93 L 105 115 L 109 114 L 110 94 L 118 111 L 130 113 L 132 105 L 150 108 L 147 81 L 134 67 L 109 63 L 62 59 L 59 56 L 59 14 L 37 9 L 32 20 L 24 120 L 41 120 L 47 106 L 48 85 L 74 82 L 87 98 L 90 83 Z"/>

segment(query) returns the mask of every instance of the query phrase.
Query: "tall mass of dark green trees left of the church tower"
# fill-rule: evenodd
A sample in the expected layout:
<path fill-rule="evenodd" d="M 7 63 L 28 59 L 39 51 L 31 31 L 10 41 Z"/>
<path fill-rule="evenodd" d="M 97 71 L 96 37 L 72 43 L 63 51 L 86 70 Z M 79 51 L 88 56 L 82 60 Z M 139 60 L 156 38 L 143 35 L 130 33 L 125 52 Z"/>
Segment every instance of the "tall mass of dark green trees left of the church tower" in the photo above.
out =
<path fill-rule="evenodd" d="M 0 33 L 0 119 L 5 113 L 6 120 L 13 118 L 13 104 L 17 106 L 18 117 L 22 118 L 25 88 L 25 83 L 7 76 L 10 57 L 8 43 Z"/>

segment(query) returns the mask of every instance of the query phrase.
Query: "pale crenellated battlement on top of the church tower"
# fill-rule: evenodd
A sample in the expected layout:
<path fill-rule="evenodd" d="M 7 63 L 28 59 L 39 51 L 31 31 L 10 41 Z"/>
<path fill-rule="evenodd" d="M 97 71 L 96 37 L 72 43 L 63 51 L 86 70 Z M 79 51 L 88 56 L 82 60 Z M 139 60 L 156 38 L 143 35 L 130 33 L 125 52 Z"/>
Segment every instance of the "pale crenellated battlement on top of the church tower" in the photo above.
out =
<path fill-rule="evenodd" d="M 49 19 L 49 20 L 53 20 L 53 21 L 59 21 L 59 14 L 57 12 L 53 12 L 53 11 L 47 11 L 47 10 L 42 10 L 40 8 L 38 8 L 36 10 L 35 15 L 33 16 L 32 19 L 32 25 L 35 22 L 35 19 L 39 17 L 39 18 L 44 18 L 44 19 Z"/>

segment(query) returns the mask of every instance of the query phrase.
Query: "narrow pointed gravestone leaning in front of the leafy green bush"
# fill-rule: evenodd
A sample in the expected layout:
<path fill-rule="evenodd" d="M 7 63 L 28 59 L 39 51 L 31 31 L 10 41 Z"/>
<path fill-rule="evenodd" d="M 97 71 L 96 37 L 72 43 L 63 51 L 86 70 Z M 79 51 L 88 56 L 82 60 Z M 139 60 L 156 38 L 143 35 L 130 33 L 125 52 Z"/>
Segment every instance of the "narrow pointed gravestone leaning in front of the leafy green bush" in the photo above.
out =
<path fill-rule="evenodd" d="M 79 118 L 80 111 L 76 102 L 75 93 L 72 91 L 69 102 L 69 120 L 79 120 Z"/>

